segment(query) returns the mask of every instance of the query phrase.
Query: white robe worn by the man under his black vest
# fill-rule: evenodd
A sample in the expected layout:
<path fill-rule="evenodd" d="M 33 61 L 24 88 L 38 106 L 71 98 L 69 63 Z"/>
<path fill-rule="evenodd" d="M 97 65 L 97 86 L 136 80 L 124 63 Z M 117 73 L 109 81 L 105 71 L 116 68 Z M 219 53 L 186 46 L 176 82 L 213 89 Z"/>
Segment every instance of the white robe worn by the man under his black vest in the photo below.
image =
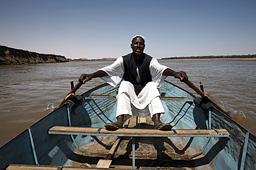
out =
<path fill-rule="evenodd" d="M 116 86 L 122 81 L 118 89 L 116 116 L 125 114 L 130 116 L 152 117 L 154 114 L 163 114 L 165 110 L 161 103 L 158 87 L 161 87 L 161 84 L 167 77 L 163 76 L 163 71 L 167 68 L 168 67 L 159 64 L 156 59 L 152 58 L 149 64 L 152 82 L 147 83 L 138 96 L 136 96 L 134 92 L 134 85 L 128 81 L 122 81 L 122 75 L 125 73 L 122 57 L 119 57 L 113 64 L 100 69 L 108 74 L 108 76 L 104 76 L 102 79 L 109 83 L 109 85 Z"/>

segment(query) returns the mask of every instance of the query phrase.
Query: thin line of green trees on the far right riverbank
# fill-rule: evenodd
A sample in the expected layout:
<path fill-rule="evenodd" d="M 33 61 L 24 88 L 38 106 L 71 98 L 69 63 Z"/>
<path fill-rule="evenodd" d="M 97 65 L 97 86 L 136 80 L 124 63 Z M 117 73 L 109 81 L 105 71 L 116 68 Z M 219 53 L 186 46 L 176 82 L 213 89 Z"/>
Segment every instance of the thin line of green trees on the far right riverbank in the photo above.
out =
<path fill-rule="evenodd" d="M 256 54 L 230 56 L 173 56 L 162 58 L 162 60 L 167 59 L 256 59 Z"/>

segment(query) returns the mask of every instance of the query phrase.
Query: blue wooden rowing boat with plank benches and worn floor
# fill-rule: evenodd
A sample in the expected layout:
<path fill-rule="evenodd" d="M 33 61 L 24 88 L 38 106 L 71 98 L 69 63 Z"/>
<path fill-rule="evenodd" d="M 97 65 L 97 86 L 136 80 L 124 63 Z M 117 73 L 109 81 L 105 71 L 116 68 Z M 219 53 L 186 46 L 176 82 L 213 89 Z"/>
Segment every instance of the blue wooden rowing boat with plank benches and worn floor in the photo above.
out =
<path fill-rule="evenodd" d="M 256 169 L 256 138 L 226 114 L 164 82 L 164 123 L 116 121 L 118 87 L 95 87 L 55 109 L 0 149 L 0 169 Z"/>

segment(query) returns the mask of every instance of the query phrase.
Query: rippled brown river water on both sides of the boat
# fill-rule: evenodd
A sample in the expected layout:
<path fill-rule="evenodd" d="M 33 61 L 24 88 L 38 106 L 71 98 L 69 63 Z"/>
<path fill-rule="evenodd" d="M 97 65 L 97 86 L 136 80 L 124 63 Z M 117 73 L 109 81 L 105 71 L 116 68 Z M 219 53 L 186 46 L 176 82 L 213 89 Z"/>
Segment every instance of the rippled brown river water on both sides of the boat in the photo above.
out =
<path fill-rule="evenodd" d="M 91 73 L 113 61 L 80 61 L 0 66 L 0 147 L 46 116 L 47 103 L 59 105 L 82 73 Z M 195 85 L 203 83 L 205 92 L 219 105 L 233 109 L 237 122 L 256 134 L 256 61 L 161 60 L 172 70 L 187 72 Z M 178 79 L 167 81 L 195 94 Z M 82 85 L 76 94 L 104 83 L 101 78 Z"/>

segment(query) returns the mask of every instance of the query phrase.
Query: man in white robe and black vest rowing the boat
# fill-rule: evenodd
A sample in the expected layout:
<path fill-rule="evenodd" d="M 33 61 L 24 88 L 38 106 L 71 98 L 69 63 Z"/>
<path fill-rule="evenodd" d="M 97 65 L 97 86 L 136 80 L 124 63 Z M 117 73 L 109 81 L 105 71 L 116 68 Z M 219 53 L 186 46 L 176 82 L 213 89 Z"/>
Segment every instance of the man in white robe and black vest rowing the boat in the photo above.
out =
<path fill-rule="evenodd" d="M 80 83 L 86 83 L 91 78 L 101 77 L 110 85 L 118 89 L 117 122 L 107 123 L 107 129 L 122 127 L 127 116 L 151 116 L 154 128 L 170 130 L 172 125 L 161 123 L 161 114 L 164 114 L 158 87 L 167 76 L 174 76 L 180 81 L 186 81 L 185 72 L 174 72 L 165 65 L 161 65 L 152 56 L 145 54 L 145 39 L 137 35 L 131 40 L 132 53 L 119 57 L 113 64 L 103 67 L 93 74 L 82 74 Z"/>

